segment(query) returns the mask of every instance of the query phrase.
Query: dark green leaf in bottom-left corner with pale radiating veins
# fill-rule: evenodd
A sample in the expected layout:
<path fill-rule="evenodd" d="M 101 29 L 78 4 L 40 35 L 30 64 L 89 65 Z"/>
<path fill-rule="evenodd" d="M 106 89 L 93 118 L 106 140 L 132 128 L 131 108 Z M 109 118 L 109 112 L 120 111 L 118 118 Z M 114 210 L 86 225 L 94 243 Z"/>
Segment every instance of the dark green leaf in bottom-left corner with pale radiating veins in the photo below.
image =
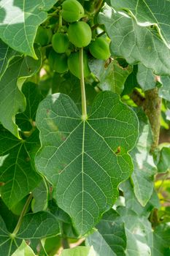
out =
<path fill-rule="evenodd" d="M 27 214 L 23 217 L 20 230 L 15 237 L 8 232 L 1 216 L 0 227 L 1 255 L 12 255 L 12 252 L 15 252 L 23 239 L 28 240 L 29 244 L 31 244 L 35 239 L 39 241 L 39 239 L 56 236 L 59 233 L 57 219 L 53 214 L 45 211 L 36 214 Z"/>

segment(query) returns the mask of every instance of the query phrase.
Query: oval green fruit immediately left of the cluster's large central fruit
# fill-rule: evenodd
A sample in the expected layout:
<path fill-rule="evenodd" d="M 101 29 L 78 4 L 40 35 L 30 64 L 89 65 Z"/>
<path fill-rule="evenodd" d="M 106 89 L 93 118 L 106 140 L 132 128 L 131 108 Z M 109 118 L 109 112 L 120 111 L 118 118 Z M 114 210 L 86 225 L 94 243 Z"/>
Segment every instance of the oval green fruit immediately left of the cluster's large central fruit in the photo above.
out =
<path fill-rule="evenodd" d="M 53 49 L 56 53 L 65 53 L 69 48 L 69 37 L 67 34 L 56 33 L 52 38 Z"/>

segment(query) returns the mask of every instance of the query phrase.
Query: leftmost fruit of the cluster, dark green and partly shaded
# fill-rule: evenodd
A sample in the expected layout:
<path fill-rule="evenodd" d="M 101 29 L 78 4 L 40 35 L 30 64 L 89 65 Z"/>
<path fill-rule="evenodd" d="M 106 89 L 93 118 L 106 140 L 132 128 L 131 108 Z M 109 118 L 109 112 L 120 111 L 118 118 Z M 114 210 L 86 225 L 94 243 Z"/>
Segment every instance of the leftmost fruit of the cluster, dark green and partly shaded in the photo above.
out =
<path fill-rule="evenodd" d="M 51 41 L 53 33 L 51 29 L 46 29 L 42 26 L 39 26 L 36 32 L 35 42 L 39 43 L 40 45 L 48 45 Z"/>

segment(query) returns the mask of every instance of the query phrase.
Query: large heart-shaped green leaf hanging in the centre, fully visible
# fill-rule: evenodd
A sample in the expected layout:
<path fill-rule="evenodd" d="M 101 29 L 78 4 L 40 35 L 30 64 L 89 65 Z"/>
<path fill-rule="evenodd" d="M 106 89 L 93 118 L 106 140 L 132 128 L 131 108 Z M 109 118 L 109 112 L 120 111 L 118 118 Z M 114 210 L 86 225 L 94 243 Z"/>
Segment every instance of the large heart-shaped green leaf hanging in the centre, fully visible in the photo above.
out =
<path fill-rule="evenodd" d="M 58 206 L 82 236 L 112 206 L 118 184 L 133 170 L 127 152 L 138 136 L 136 115 L 105 91 L 83 120 L 72 99 L 53 94 L 40 103 L 36 124 L 42 143 L 36 168 L 56 186 Z"/>

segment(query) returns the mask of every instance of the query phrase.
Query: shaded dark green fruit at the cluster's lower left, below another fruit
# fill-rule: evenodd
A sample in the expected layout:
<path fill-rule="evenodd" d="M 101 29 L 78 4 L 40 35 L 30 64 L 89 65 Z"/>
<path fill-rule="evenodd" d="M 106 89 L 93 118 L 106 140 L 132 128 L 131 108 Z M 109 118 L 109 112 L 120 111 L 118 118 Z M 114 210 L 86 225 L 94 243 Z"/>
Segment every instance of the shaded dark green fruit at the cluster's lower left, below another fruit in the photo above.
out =
<path fill-rule="evenodd" d="M 51 50 L 48 61 L 51 69 L 58 73 L 64 73 L 68 70 L 67 56 L 64 53 L 55 53 L 54 50 Z"/>

